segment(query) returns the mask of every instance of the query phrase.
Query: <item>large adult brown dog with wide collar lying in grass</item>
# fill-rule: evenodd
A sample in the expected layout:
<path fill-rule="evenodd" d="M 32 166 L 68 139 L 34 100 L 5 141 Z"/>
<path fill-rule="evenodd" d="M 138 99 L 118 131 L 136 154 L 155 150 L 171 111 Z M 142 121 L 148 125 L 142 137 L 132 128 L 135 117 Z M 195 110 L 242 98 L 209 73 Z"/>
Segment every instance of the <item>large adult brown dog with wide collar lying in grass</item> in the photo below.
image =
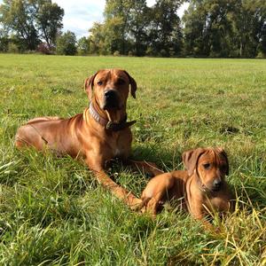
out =
<path fill-rule="evenodd" d="M 39 117 L 18 129 L 15 145 L 50 149 L 55 153 L 82 157 L 100 184 L 124 200 L 129 207 L 137 207 L 142 200 L 128 192 L 106 175 L 106 161 L 121 158 L 133 167 L 155 176 L 161 173 L 154 164 L 129 160 L 132 134 L 127 121 L 127 98 L 136 98 L 137 83 L 124 70 L 100 70 L 85 81 L 90 107 L 69 119 Z"/>

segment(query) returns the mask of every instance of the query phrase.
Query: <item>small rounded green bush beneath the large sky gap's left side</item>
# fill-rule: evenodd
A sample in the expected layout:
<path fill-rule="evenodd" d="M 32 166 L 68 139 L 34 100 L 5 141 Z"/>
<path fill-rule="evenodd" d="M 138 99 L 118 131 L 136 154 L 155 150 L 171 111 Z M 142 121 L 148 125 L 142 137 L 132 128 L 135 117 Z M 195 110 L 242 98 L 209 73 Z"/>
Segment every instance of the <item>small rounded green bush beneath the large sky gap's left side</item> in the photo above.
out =
<path fill-rule="evenodd" d="M 68 30 L 57 38 L 56 51 L 60 55 L 74 55 L 76 53 L 76 37 L 73 32 Z"/>

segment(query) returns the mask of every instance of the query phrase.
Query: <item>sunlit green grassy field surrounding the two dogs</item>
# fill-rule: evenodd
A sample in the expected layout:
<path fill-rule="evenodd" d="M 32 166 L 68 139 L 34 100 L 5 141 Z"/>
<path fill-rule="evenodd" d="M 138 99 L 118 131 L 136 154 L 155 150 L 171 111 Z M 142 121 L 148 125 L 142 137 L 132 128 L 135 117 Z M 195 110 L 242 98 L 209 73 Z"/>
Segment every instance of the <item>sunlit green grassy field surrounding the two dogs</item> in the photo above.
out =
<path fill-rule="evenodd" d="M 13 146 L 39 115 L 69 117 L 88 106 L 84 79 L 100 68 L 137 81 L 133 157 L 182 169 L 180 155 L 223 146 L 237 206 L 221 233 L 165 207 L 138 215 L 105 192 L 80 161 Z M 1 265 L 266 265 L 266 61 L 0 55 Z M 138 196 L 141 173 L 116 165 Z"/>

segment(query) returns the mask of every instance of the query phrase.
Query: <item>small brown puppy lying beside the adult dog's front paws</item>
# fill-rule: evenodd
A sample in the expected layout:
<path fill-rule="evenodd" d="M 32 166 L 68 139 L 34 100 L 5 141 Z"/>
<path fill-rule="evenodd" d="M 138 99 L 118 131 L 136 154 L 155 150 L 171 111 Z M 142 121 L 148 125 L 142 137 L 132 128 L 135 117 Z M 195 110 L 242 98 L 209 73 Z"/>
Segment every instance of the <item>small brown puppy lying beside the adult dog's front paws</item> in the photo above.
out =
<path fill-rule="evenodd" d="M 182 158 L 186 171 L 155 176 L 147 184 L 141 197 L 144 211 L 156 215 L 167 200 L 179 201 L 182 208 L 200 220 L 209 211 L 228 211 L 231 192 L 224 176 L 229 174 L 229 163 L 223 149 L 198 148 L 183 153 Z"/>

